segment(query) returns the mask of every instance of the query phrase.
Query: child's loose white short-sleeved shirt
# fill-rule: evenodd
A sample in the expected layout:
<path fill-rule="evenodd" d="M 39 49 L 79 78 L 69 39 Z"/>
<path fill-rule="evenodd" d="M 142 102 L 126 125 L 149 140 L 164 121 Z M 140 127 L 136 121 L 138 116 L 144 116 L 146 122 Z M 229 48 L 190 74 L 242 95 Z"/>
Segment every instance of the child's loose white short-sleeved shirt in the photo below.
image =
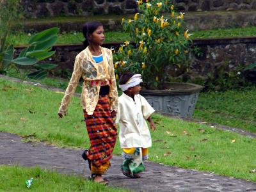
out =
<path fill-rule="evenodd" d="M 152 146 L 146 120 L 154 111 L 141 95 L 134 95 L 134 100 L 125 93 L 119 97 L 116 122 L 120 127 L 121 148 Z"/>

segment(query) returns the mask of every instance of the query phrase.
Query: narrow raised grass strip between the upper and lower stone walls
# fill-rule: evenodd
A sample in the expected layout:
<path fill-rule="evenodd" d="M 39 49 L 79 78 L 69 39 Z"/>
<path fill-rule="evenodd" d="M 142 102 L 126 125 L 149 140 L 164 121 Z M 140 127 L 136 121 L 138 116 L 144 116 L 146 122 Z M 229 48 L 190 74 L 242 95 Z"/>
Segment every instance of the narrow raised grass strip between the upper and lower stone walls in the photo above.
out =
<path fill-rule="evenodd" d="M 224 38 L 224 37 L 237 37 L 237 36 L 255 36 L 256 27 L 245 28 L 229 28 L 229 29 L 213 29 L 205 31 L 190 31 L 193 33 L 192 39 L 195 38 Z M 11 35 L 10 39 L 15 45 L 26 45 L 31 34 L 21 33 L 19 35 Z M 106 32 L 105 42 L 124 42 L 126 40 L 132 41 L 128 33 L 121 31 Z M 82 44 L 84 41 L 83 33 L 81 32 L 68 32 L 59 35 L 57 44 Z"/>

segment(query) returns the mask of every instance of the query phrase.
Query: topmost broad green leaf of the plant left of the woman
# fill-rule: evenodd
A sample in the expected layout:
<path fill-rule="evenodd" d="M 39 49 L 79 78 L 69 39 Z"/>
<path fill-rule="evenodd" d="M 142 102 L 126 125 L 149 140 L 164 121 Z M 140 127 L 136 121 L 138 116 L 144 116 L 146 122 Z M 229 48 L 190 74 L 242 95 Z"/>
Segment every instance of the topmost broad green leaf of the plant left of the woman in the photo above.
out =
<path fill-rule="evenodd" d="M 29 44 L 35 44 L 36 42 L 44 42 L 46 40 L 49 40 L 53 36 L 56 36 L 59 32 L 59 28 L 50 28 L 46 29 L 45 31 L 42 31 L 40 33 L 36 33 L 36 35 L 32 36 L 29 39 Z"/>

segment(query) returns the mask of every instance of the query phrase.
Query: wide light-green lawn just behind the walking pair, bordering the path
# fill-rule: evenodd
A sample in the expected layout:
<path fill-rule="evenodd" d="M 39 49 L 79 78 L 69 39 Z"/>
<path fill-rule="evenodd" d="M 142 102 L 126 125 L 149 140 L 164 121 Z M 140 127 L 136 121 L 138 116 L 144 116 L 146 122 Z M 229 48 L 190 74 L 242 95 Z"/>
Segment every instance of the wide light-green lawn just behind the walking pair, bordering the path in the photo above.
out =
<path fill-rule="evenodd" d="M 58 118 L 62 93 L 0 79 L 0 131 L 19 135 L 35 133 L 33 140 L 61 147 L 89 146 L 80 99 L 73 97 L 68 116 Z M 256 182 L 256 139 L 205 125 L 153 116 L 150 160 L 205 170 Z M 116 143 L 115 154 L 120 154 Z"/>

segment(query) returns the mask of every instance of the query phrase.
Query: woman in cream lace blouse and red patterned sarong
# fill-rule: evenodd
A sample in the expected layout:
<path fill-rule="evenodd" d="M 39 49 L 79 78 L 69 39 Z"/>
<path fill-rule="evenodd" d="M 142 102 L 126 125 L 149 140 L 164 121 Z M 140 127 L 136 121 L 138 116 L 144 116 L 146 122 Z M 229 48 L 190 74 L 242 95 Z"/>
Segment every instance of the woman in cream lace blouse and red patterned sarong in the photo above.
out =
<path fill-rule="evenodd" d="M 86 22 L 83 26 L 84 49 L 76 56 L 74 72 L 61 101 L 60 118 L 66 114 L 68 103 L 76 91 L 79 79 L 83 77 L 81 102 L 84 120 L 90 138 L 90 149 L 84 150 L 83 158 L 88 160 L 91 178 L 95 182 L 108 184 L 102 178 L 110 166 L 116 143 L 116 126 L 113 118 L 118 108 L 118 93 L 112 52 L 100 47 L 104 42 L 104 28 L 100 22 Z"/>

